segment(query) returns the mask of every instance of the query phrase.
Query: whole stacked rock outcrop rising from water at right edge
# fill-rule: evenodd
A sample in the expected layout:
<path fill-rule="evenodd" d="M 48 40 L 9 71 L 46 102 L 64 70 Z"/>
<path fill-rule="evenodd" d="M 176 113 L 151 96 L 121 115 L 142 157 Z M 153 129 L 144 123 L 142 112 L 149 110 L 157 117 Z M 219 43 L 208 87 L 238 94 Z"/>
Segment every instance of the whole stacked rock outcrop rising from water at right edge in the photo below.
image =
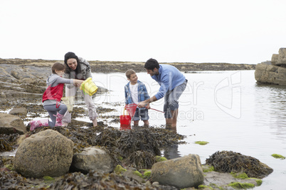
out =
<path fill-rule="evenodd" d="M 271 61 L 256 65 L 255 79 L 265 84 L 286 85 L 286 48 L 280 48 L 279 54 L 273 54 Z"/>

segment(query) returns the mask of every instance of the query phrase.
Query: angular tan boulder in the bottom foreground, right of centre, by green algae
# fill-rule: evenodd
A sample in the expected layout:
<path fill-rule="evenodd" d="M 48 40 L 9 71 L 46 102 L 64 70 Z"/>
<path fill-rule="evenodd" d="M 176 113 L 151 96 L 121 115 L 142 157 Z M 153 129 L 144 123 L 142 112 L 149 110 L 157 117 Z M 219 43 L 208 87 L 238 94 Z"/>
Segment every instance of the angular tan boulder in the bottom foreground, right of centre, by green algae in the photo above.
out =
<path fill-rule="evenodd" d="M 152 181 L 183 189 L 203 184 L 203 169 L 198 155 L 157 162 L 152 167 Z"/>

